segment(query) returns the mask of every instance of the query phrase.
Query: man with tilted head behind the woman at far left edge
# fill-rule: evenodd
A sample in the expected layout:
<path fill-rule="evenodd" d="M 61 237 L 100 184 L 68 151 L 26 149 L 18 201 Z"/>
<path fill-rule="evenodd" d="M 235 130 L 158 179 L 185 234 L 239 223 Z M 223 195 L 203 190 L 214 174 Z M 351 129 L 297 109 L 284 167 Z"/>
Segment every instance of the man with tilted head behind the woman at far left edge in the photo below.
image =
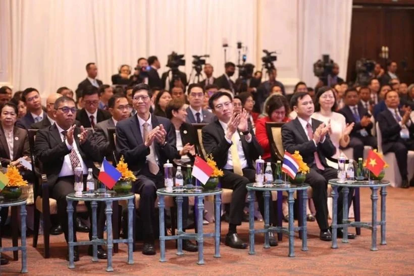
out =
<path fill-rule="evenodd" d="M 29 129 L 34 123 L 40 122 L 46 117 L 43 112 L 39 91 L 35 88 L 26 88 L 22 93 L 22 101 L 26 104 L 27 113 L 16 122 L 16 126 Z"/>

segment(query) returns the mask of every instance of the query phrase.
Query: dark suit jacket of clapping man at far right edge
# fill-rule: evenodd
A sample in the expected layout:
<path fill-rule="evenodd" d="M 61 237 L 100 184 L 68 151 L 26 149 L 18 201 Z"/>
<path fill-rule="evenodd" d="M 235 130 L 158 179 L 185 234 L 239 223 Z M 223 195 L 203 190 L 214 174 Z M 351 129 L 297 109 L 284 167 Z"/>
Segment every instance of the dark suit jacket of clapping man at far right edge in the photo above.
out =
<path fill-rule="evenodd" d="M 400 111 L 401 118 L 403 117 L 404 113 Z M 384 153 L 390 151 L 391 146 L 395 142 L 404 142 L 403 139 L 400 138 L 400 131 L 401 127 L 395 120 L 394 115 L 387 109 L 383 112 L 378 114 L 377 122 L 381 130 L 382 136 L 382 150 Z M 408 127 L 408 131 L 410 134 L 410 139 L 412 142 L 413 134 L 414 134 L 414 123 L 411 122 L 411 125 Z"/>

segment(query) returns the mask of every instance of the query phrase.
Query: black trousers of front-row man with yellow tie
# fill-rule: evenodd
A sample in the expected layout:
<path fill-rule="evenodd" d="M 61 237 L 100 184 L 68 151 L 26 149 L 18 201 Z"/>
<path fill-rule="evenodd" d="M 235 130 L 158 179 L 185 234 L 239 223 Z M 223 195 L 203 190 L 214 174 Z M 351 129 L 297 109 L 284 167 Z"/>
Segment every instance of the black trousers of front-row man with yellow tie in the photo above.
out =
<path fill-rule="evenodd" d="M 241 225 L 243 218 L 244 202 L 246 200 L 247 195 L 246 185 L 255 181 L 256 171 L 253 169 L 245 168 L 243 169 L 243 176 L 233 173 L 232 170 L 226 169 L 223 169 L 223 173 L 224 175 L 221 178 L 222 188 L 233 190 L 230 203 L 229 223 L 234 225 Z M 259 205 L 259 209 L 262 215 L 264 215 L 265 200 L 263 197 L 263 192 L 256 192 L 256 199 Z M 277 222 L 275 211 L 274 208 L 272 208 L 272 196 L 269 200 L 270 224 L 276 226 Z"/>

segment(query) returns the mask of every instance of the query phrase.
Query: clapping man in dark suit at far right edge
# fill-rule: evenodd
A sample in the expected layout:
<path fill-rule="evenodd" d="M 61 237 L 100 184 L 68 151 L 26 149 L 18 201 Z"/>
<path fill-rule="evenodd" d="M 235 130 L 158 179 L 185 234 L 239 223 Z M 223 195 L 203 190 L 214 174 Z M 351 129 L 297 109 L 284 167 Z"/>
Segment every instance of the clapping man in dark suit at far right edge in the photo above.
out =
<path fill-rule="evenodd" d="M 384 153 L 395 153 L 402 179 L 401 187 L 408 188 L 407 154 L 408 150 L 414 150 L 414 124 L 409 117 L 411 108 L 406 107 L 405 112 L 399 111 L 399 96 L 393 90 L 385 94 L 385 104 L 387 109 L 377 117 L 382 135 L 382 150 Z M 414 178 L 409 185 L 414 185 Z"/>

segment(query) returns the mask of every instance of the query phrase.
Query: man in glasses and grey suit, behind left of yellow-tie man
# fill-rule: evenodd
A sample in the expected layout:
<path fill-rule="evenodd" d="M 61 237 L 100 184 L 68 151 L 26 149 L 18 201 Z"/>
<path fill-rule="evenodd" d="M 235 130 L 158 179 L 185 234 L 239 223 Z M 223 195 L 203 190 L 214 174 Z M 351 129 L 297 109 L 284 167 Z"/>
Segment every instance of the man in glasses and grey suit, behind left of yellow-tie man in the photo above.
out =
<path fill-rule="evenodd" d="M 188 101 L 186 122 L 189 124 L 210 124 L 214 115 L 207 109 L 202 109 L 204 100 L 204 89 L 200 84 L 193 83 L 188 86 Z"/>

